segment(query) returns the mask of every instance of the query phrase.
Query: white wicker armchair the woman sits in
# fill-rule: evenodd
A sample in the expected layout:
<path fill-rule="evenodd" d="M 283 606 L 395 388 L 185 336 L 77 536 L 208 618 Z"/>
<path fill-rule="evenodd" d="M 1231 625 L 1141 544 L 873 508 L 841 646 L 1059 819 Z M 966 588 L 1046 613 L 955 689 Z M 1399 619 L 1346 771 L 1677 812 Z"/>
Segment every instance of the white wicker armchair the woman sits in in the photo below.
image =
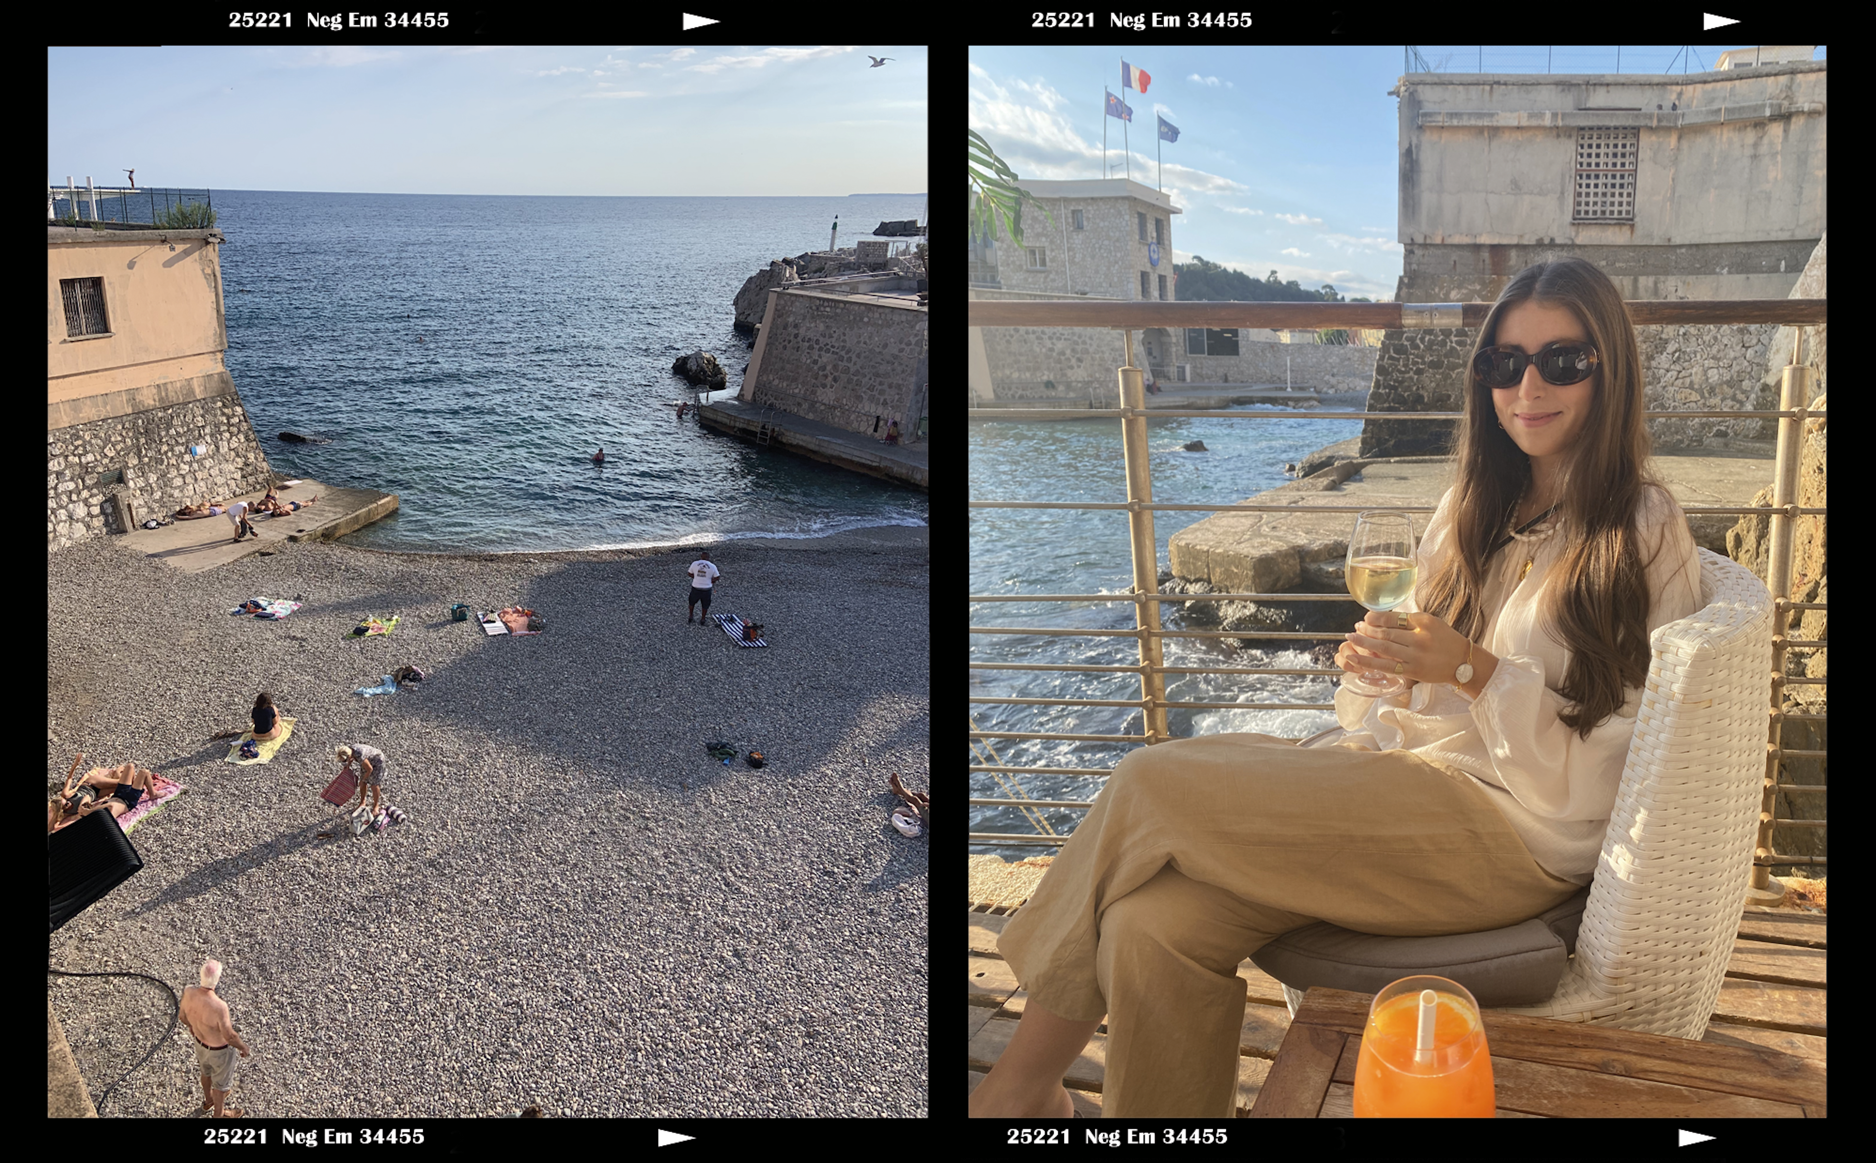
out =
<path fill-rule="evenodd" d="M 1566 1022 L 1700 1037 L 1745 912 L 1771 681 L 1771 593 L 1700 553 L 1703 608 L 1655 630 L 1636 737 L 1576 955 L 1542 1005 Z M 1388 940 L 1388 938 L 1373 938 Z M 1302 992 L 1283 987 L 1291 1015 Z"/>

